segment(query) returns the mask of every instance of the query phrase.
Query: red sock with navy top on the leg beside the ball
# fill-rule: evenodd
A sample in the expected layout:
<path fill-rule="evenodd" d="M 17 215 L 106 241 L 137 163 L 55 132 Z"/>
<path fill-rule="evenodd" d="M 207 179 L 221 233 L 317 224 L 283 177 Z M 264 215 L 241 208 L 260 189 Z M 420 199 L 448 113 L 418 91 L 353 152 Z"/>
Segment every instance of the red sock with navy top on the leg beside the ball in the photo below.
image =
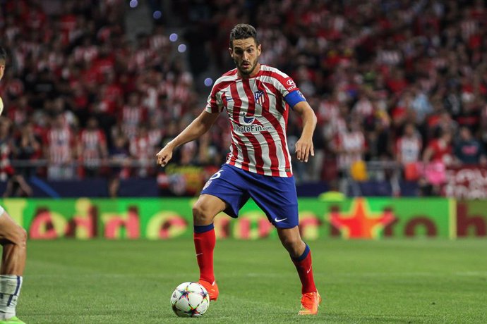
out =
<path fill-rule="evenodd" d="M 194 242 L 196 258 L 200 267 L 200 280 L 205 280 L 212 284 L 215 282 L 213 273 L 213 249 L 215 249 L 216 237 L 213 224 L 194 227 Z"/>

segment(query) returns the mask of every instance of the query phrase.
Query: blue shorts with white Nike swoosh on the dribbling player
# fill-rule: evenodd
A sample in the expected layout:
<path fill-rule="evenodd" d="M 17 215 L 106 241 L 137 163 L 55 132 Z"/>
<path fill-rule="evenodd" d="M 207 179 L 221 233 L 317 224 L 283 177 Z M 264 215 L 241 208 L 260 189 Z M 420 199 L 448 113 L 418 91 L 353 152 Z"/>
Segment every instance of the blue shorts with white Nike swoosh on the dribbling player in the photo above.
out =
<path fill-rule="evenodd" d="M 227 203 L 224 210 L 237 218 L 249 198 L 255 201 L 276 228 L 294 228 L 299 223 L 294 177 L 270 177 L 224 164 L 206 182 L 201 194 L 211 194 Z"/>

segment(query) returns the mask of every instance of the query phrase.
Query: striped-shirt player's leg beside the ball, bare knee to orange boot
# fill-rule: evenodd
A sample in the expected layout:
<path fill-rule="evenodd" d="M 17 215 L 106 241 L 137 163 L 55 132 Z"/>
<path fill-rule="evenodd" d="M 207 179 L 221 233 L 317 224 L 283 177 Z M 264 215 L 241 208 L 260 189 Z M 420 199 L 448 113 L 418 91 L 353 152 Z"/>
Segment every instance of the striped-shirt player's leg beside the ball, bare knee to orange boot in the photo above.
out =
<path fill-rule="evenodd" d="M 194 243 L 196 259 L 200 268 L 200 282 L 210 294 L 210 300 L 217 300 L 218 286 L 213 270 L 213 250 L 216 237 L 213 218 L 224 211 L 226 204 L 222 199 L 210 194 L 201 194 L 193 206 Z"/>

